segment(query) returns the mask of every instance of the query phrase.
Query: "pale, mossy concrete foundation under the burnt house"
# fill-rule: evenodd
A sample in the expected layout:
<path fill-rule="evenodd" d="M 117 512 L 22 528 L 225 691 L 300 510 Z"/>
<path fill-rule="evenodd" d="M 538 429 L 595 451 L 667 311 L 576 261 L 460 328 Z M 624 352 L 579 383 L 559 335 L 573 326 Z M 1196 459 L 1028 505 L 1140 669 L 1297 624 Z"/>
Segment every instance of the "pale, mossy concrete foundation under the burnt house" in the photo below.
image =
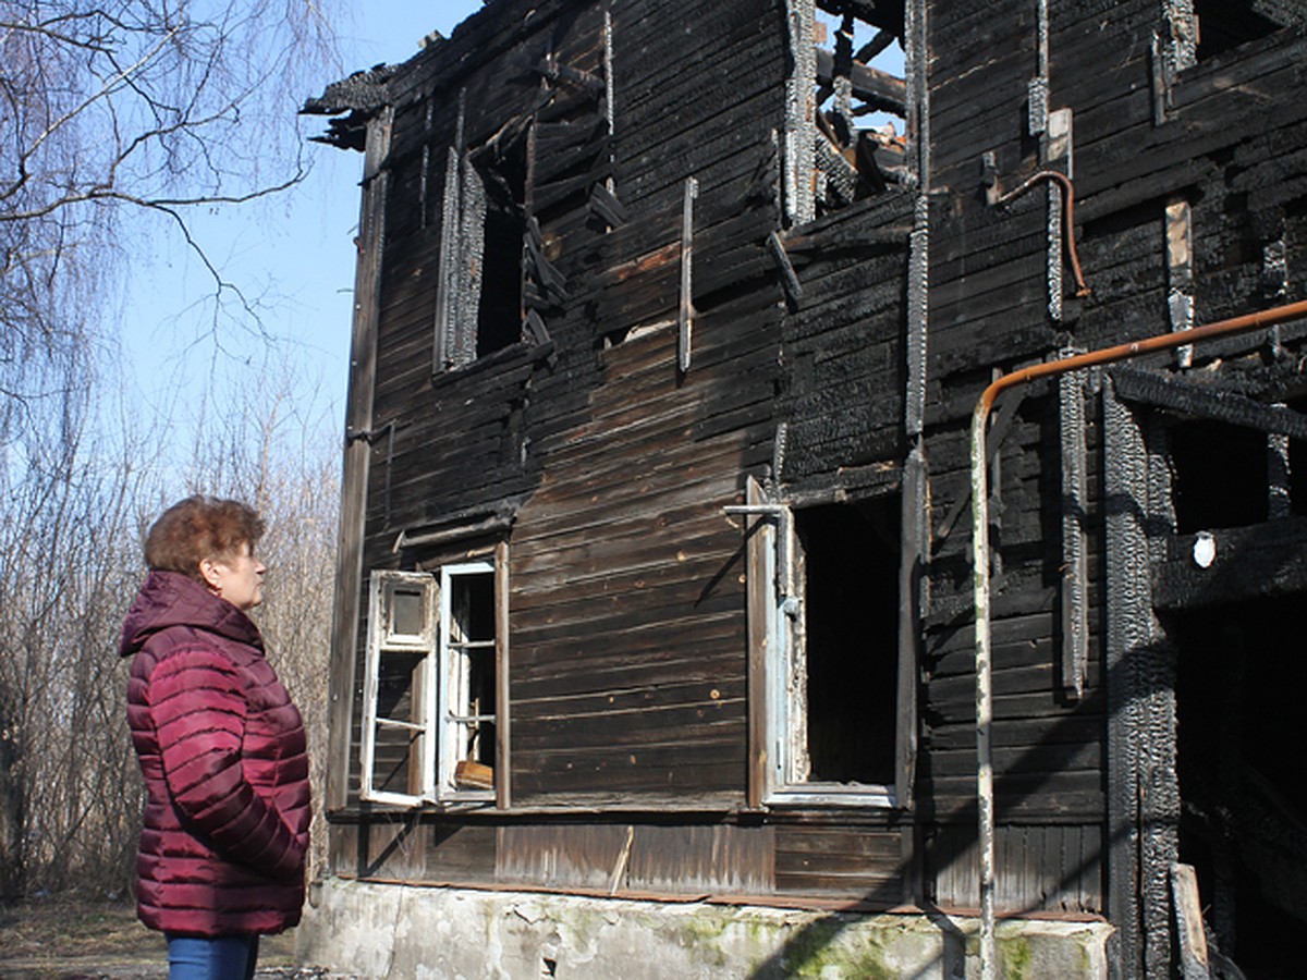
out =
<path fill-rule="evenodd" d="M 979 976 L 978 921 L 516 891 L 315 885 L 298 959 L 352 977 Z M 1005 920 L 1001 976 L 1106 977 L 1106 923 Z"/>

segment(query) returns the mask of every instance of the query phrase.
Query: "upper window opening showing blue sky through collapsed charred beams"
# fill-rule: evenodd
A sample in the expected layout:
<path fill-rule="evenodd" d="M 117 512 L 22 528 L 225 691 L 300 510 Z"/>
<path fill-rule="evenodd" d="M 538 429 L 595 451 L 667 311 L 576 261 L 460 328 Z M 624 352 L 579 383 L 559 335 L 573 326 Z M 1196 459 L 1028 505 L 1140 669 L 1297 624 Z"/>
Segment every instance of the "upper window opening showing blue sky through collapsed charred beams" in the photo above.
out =
<path fill-rule="evenodd" d="M 903 4 L 818 0 L 817 212 L 881 193 L 907 170 Z"/>

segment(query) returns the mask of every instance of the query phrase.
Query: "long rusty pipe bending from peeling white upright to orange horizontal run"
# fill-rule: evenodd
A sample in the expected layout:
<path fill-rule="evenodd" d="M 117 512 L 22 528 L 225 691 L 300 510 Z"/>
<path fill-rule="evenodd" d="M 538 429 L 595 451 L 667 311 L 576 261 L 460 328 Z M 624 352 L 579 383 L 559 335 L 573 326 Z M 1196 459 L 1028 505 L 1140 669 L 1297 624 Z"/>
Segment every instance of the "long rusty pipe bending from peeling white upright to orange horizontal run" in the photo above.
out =
<path fill-rule="evenodd" d="M 1034 179 L 1034 178 L 1031 178 Z M 996 379 L 984 389 L 971 416 L 971 563 L 975 602 L 976 669 L 976 802 L 980 825 L 980 976 L 991 980 L 997 970 L 995 946 L 995 848 L 993 848 L 993 723 L 992 664 L 989 653 L 989 486 L 985 465 L 985 426 L 989 410 L 1005 391 L 1085 367 L 1127 361 L 1141 354 L 1197 344 L 1213 337 L 1248 333 L 1265 327 L 1307 318 L 1307 301 L 1277 306 L 1256 314 L 1117 344 L 1086 354 L 1048 361 Z"/>

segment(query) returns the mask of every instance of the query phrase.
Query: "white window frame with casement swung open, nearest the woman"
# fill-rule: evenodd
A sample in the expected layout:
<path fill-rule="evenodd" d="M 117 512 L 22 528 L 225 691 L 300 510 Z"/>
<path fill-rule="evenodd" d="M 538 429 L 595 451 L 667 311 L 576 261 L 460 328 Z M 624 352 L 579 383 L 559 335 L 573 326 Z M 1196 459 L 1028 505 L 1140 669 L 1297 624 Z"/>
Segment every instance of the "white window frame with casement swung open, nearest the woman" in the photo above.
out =
<path fill-rule="evenodd" d="M 367 651 L 363 676 L 363 725 L 359 747 L 359 800 L 365 802 L 420 808 L 426 805 L 507 805 L 506 729 L 503 706 L 507 664 L 506 547 L 494 557 L 451 562 L 439 568 L 417 572 L 374 570 L 369 596 Z M 456 580 L 485 575 L 493 588 L 491 636 L 473 642 L 457 639 L 457 610 L 451 598 Z M 405 632 L 393 629 L 395 595 L 401 591 L 420 591 L 422 595 L 422 629 Z M 459 698 L 468 691 L 467 676 L 459 668 L 465 665 L 469 649 L 480 651 L 493 662 L 491 690 L 495 691 L 495 712 L 478 713 Z M 387 653 L 412 656 L 421 660 L 413 668 L 410 686 L 410 716 L 408 719 L 383 717 L 378 711 L 382 660 Z M 476 717 L 472 717 L 476 715 Z M 469 758 L 469 742 L 461 737 L 468 725 L 491 727 L 494 730 L 491 788 L 460 787 L 455 779 L 460 762 Z M 374 784 L 378 732 L 383 728 L 410 730 L 416 755 L 409 762 L 409 792 L 380 789 Z M 410 749 L 410 751 L 413 751 Z"/>

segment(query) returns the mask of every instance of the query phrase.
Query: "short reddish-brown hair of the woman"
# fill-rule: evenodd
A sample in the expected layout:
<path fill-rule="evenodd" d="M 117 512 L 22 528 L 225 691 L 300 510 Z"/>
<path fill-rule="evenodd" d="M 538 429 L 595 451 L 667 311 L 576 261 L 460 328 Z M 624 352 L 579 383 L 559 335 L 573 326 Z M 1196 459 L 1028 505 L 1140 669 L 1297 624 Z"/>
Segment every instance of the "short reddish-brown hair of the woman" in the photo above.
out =
<path fill-rule="evenodd" d="M 248 504 L 195 495 L 173 504 L 145 536 L 145 564 L 203 581 L 200 562 L 229 558 L 263 537 L 263 517 Z"/>

